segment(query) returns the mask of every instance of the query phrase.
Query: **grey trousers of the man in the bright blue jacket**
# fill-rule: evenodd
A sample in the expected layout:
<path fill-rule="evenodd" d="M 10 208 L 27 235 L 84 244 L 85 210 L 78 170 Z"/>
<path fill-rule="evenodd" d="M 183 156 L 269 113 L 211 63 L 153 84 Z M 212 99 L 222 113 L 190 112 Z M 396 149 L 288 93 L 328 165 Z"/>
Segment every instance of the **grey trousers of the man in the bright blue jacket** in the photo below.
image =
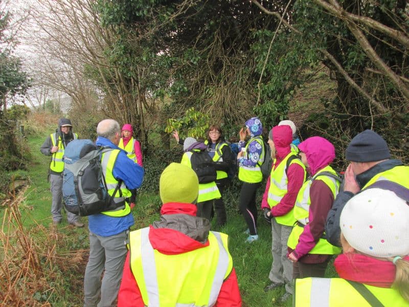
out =
<path fill-rule="evenodd" d="M 128 251 L 125 246 L 127 235 L 128 230 L 107 237 L 89 232 L 89 259 L 84 276 L 85 307 L 108 307 L 116 300 Z"/>

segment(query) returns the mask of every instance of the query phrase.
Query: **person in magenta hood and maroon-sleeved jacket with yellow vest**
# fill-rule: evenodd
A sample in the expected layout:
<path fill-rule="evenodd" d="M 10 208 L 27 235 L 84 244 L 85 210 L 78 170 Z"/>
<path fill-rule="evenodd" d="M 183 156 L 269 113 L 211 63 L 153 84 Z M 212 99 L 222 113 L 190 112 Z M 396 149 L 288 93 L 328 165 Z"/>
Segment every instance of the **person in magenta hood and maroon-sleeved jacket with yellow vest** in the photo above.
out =
<path fill-rule="evenodd" d="M 327 242 L 324 224 L 334 202 L 341 179 L 330 166 L 335 148 L 322 137 L 300 143 L 301 161 L 310 175 L 298 192 L 294 224 L 288 238 L 288 258 L 293 262 L 293 278 L 324 277 L 332 255 L 340 248 Z"/>

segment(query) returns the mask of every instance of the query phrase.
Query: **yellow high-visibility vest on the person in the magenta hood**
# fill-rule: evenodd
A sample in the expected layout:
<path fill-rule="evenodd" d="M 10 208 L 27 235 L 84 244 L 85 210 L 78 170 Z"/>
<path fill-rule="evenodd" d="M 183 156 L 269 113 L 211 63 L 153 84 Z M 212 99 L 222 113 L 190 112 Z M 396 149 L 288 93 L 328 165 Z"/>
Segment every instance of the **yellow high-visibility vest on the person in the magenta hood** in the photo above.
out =
<path fill-rule="evenodd" d="M 300 191 L 297 195 L 296 205 L 294 206 L 294 218 L 302 224 L 307 225 L 309 223 L 308 216 L 309 216 L 309 207 L 311 204 L 310 199 L 310 187 L 314 180 L 322 180 L 328 188 L 332 192 L 332 196 L 335 199 L 336 195 L 338 194 L 339 188 L 339 181 L 335 180 L 332 177 L 321 175 L 322 172 L 331 172 L 336 174 L 334 169 L 331 166 L 326 166 L 320 171 L 318 171 L 313 178 L 307 180 L 303 186 L 301 187 Z M 316 179 L 317 178 L 317 179 Z M 287 245 L 292 248 L 296 249 L 299 238 L 301 234 L 304 232 L 304 228 L 300 225 L 294 225 L 291 233 L 288 237 Z M 333 246 L 325 238 L 320 238 L 319 241 L 315 244 L 315 246 L 308 252 L 309 254 L 326 254 L 326 255 L 335 255 L 339 254 L 341 249 L 339 247 Z"/>

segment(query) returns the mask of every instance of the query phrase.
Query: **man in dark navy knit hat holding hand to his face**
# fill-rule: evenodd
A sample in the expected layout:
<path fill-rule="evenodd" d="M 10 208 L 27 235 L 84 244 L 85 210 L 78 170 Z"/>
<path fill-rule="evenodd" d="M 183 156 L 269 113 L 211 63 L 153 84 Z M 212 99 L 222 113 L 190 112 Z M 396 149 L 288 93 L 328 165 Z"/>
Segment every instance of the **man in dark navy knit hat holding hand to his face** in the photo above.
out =
<path fill-rule="evenodd" d="M 340 214 L 354 195 L 377 181 L 391 181 L 409 188 L 409 166 L 391 159 L 388 144 L 375 131 L 368 129 L 356 135 L 346 149 L 345 158 L 351 163 L 325 224 L 327 240 L 335 246 L 340 246 Z"/>

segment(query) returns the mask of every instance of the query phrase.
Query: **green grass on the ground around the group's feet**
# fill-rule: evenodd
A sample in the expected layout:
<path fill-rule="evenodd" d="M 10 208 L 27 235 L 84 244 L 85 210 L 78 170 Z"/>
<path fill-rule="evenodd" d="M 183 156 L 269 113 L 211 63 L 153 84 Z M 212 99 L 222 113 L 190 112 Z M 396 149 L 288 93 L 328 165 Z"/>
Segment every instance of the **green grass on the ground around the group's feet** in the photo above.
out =
<path fill-rule="evenodd" d="M 37 225 L 44 226 L 51 234 L 55 233 L 58 237 L 57 255 L 71 253 L 73 258 L 78 258 L 78 262 L 72 263 L 70 259 L 64 259 L 64 264 L 53 267 L 47 282 L 48 289 L 54 287 L 54 290 L 38 289 L 34 297 L 41 301 L 48 300 L 53 306 L 80 306 L 83 298 L 82 280 L 89 248 L 88 229 L 87 225 L 83 229 L 76 229 L 67 225 L 65 213 L 63 213 L 63 222 L 58 225 L 58 228 L 55 230 L 52 226 L 51 192 L 50 184 L 47 182 L 50 157 L 43 156 L 39 151 L 39 147 L 46 137 L 47 134 L 44 134 L 30 138 L 28 141 L 33 162 L 27 171 L 30 187 L 26 191 L 25 201 L 21 204 L 23 224 L 27 229 L 31 229 L 34 239 L 36 236 L 42 235 L 42 232 L 36 234 L 35 229 L 40 228 Z M 262 190 L 263 187 L 260 189 Z M 146 227 L 160 217 L 161 201 L 158 195 L 141 193 L 138 195 L 136 203 L 137 205 L 132 212 L 135 221 L 132 229 Z M 229 249 L 238 277 L 243 306 L 280 306 L 277 299 L 284 294 L 284 289 L 277 289 L 268 293 L 263 291 L 269 282 L 268 273 L 272 261 L 270 225 L 263 220 L 260 212 L 258 221 L 260 239 L 252 244 L 246 244 L 247 235 L 244 230 L 247 227 L 243 217 L 236 209 L 235 204 L 230 204 L 227 207 L 229 208 L 228 223 L 221 229 L 216 229 L 214 228 L 215 221 L 213 221 L 213 228 L 229 235 Z M 87 218 L 82 217 L 82 222 L 87 224 Z M 47 264 L 44 266 L 47 267 Z M 329 267 L 327 276 L 335 276 L 331 265 Z M 284 306 L 291 306 L 291 302 L 288 301 Z"/>

